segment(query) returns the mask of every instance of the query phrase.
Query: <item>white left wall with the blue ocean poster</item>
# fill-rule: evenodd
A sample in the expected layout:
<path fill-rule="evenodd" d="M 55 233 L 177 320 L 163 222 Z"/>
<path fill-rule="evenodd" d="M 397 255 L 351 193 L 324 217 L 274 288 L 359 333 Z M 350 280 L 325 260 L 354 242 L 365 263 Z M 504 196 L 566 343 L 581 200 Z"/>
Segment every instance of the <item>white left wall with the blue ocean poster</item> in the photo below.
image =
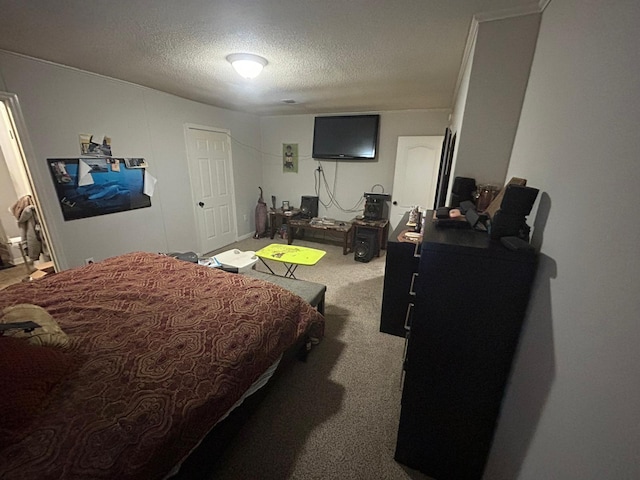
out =
<path fill-rule="evenodd" d="M 197 251 L 184 124 L 231 130 L 239 218 L 255 208 L 261 177 L 258 117 L 202 105 L 129 83 L 0 52 L 4 88 L 18 95 L 33 146 L 29 167 L 51 227 L 61 268 L 132 250 Z M 144 157 L 158 179 L 152 207 L 65 222 L 46 158 L 79 155 L 78 134 L 104 133 L 116 156 Z M 254 230 L 238 225 L 239 236 Z"/>

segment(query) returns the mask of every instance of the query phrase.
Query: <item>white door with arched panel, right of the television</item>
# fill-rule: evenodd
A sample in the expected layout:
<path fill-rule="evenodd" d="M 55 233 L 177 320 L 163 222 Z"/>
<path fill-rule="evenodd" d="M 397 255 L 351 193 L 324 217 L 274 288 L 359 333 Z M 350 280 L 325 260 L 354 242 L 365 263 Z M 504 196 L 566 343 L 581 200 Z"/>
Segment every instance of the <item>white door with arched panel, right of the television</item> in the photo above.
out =
<path fill-rule="evenodd" d="M 433 208 L 443 139 L 442 135 L 398 137 L 390 214 L 392 229 L 416 205 L 425 210 Z"/>

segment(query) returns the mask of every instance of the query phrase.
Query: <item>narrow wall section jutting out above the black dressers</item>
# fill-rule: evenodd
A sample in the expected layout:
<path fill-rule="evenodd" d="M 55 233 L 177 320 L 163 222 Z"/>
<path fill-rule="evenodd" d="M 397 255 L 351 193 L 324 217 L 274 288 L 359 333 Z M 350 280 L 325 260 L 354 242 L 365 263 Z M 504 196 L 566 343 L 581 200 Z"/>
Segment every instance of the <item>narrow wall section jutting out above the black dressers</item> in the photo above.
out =
<path fill-rule="evenodd" d="M 478 23 L 452 117 L 460 129 L 452 179 L 505 183 L 539 22 L 540 15 L 532 14 Z"/>

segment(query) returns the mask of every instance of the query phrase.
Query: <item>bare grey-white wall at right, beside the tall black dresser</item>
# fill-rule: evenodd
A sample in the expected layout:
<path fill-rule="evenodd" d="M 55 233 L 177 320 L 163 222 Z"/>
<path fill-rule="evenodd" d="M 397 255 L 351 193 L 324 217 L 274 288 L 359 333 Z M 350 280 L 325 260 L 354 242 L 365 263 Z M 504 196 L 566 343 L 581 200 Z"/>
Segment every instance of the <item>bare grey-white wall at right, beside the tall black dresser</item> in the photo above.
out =
<path fill-rule="evenodd" d="M 541 190 L 541 264 L 486 479 L 640 478 L 639 24 L 543 13 L 508 171 Z"/>

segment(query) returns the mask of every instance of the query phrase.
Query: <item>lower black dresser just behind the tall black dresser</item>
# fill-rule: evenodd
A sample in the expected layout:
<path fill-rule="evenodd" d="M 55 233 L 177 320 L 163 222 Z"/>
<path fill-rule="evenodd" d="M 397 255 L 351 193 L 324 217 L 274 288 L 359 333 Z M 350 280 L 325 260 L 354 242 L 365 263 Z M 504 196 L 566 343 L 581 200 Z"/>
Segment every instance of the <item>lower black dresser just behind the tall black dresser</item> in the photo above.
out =
<path fill-rule="evenodd" d="M 398 240 L 409 219 L 409 213 L 398 224 L 387 241 L 384 289 L 380 331 L 405 336 L 405 322 L 410 314 L 410 304 L 415 301 L 415 281 L 420 264 L 420 245 Z"/>

